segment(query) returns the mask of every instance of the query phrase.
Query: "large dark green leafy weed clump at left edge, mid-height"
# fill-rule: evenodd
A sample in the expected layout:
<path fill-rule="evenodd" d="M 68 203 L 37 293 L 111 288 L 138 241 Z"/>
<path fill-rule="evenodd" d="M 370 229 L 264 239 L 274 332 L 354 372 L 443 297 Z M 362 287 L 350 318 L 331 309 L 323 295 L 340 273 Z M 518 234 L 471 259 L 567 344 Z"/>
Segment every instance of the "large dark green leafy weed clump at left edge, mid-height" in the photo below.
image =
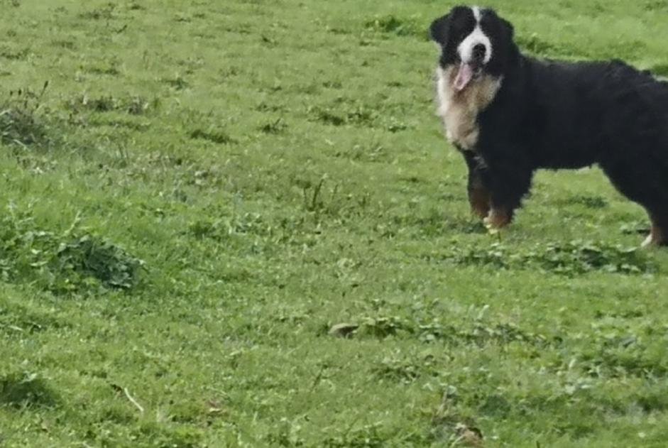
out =
<path fill-rule="evenodd" d="M 13 212 L 0 225 L 4 281 L 32 282 L 57 294 L 130 290 L 138 283 L 143 262 L 99 236 L 74 228 L 62 234 L 44 231 L 31 217 Z"/>

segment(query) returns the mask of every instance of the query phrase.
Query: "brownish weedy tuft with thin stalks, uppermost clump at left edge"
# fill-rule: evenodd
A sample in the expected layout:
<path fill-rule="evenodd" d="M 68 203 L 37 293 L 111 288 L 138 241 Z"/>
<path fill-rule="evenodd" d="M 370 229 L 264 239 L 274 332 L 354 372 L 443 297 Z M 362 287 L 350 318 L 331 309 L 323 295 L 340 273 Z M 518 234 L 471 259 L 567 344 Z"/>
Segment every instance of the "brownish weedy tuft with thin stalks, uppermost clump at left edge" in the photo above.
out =
<path fill-rule="evenodd" d="M 9 92 L 9 99 L 0 104 L 0 143 L 23 148 L 44 148 L 53 143 L 41 102 L 47 88 L 45 82 L 39 93 L 29 89 Z"/>

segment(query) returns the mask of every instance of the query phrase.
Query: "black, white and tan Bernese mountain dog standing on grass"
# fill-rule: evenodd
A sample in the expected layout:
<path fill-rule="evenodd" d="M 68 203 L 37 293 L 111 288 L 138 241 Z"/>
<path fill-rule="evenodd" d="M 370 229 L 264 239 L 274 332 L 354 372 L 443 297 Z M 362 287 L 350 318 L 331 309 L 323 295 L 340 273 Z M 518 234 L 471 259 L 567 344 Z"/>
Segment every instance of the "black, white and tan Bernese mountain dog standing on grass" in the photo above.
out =
<path fill-rule="evenodd" d="M 594 163 L 650 214 L 668 245 L 668 83 L 619 60 L 539 61 L 492 9 L 457 6 L 431 26 L 439 115 L 469 166 L 471 209 L 509 224 L 537 168 Z"/>

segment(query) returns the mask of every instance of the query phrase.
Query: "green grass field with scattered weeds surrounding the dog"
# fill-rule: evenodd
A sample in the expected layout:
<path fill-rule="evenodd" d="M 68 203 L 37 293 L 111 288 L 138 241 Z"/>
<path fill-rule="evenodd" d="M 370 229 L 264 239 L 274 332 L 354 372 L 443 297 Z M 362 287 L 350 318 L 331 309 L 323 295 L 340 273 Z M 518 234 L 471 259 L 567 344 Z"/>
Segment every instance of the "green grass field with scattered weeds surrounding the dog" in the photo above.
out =
<path fill-rule="evenodd" d="M 668 75 L 665 0 L 490 3 Z M 0 447 L 665 447 L 668 251 L 596 168 L 470 216 L 450 6 L 0 0 Z"/>

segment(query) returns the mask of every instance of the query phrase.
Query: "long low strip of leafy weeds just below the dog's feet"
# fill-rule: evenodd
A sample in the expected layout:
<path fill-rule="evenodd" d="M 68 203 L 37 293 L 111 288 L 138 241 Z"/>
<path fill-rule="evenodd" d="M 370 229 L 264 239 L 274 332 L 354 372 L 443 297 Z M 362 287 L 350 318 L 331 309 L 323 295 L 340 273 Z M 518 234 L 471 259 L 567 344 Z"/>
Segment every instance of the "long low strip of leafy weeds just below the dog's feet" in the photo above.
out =
<path fill-rule="evenodd" d="M 603 242 L 570 241 L 520 251 L 503 244 L 486 248 L 453 248 L 444 258 L 458 265 L 540 269 L 562 275 L 588 272 L 640 274 L 656 271 L 642 251 Z"/>

